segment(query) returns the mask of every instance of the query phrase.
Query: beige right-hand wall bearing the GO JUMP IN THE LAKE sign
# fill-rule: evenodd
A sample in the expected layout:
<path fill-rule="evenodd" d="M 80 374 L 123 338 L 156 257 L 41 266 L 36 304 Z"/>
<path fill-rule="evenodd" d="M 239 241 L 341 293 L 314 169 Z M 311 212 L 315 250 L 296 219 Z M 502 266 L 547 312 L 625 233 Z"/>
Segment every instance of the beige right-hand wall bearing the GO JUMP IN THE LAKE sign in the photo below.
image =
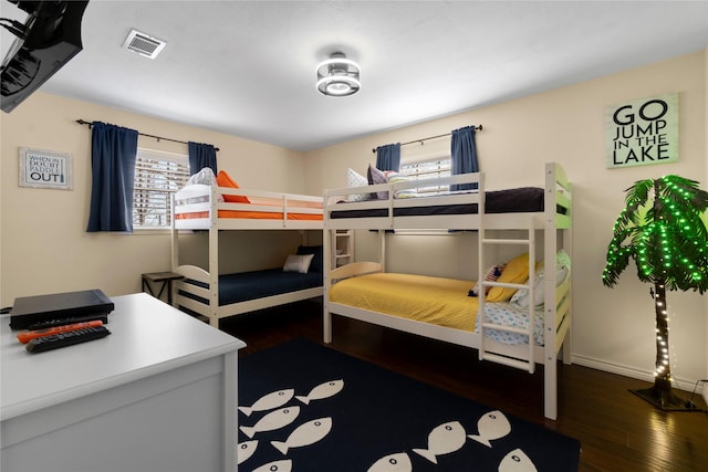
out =
<path fill-rule="evenodd" d="M 652 378 L 655 358 L 654 305 L 648 285 L 628 268 L 611 290 L 602 284 L 607 243 L 620 211 L 624 189 L 635 180 L 678 174 L 701 180 L 706 168 L 706 52 L 601 77 L 582 84 L 481 106 L 477 109 L 416 126 L 332 146 L 306 155 L 306 190 L 346 185 L 346 168 L 364 172 L 375 158 L 372 148 L 449 133 L 467 125 L 483 125 L 477 135 L 480 168 L 488 188 L 542 185 L 545 161 L 563 165 L 574 183 L 573 231 L 573 356 L 576 363 L 638 378 Z M 680 92 L 680 158 L 676 164 L 623 169 L 605 168 L 604 111 L 625 101 Z M 415 97 L 412 97 L 415 99 Z M 404 147 L 403 159 L 426 153 L 425 146 Z M 449 138 L 444 146 L 449 146 Z M 457 238 L 457 240 L 455 240 Z M 391 253 L 420 258 L 388 258 L 389 269 L 457 276 L 469 255 L 459 252 L 465 237 L 391 238 Z M 368 235 L 357 233 L 357 259 L 375 254 Z M 362 240 L 362 241 L 361 241 Z M 456 242 L 452 242 L 456 241 Z M 363 242 L 361 244 L 360 242 Z M 439 245 L 438 245 L 439 243 Z M 360 251 L 367 251 L 365 256 Z M 435 251 L 435 256 L 430 255 Z M 707 322 L 705 298 L 694 292 L 670 292 L 671 368 L 677 379 L 704 378 Z M 684 384 L 683 387 L 689 387 Z"/>

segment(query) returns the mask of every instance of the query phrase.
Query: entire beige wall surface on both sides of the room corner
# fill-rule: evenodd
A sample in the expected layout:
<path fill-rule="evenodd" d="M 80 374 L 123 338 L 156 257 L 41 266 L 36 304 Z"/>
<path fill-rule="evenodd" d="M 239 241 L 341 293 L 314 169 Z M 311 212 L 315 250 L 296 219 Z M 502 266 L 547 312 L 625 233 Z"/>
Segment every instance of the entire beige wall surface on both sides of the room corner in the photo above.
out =
<path fill-rule="evenodd" d="M 15 296 L 94 286 L 104 289 L 110 295 L 131 293 L 139 290 L 140 273 L 169 268 L 169 240 L 165 233 L 85 232 L 90 201 L 90 132 L 74 123 L 77 118 L 98 119 L 177 139 L 212 143 L 221 148 L 220 167 L 241 186 L 314 195 L 321 193 L 323 188 L 345 186 L 347 167 L 365 172 L 366 166 L 374 161 L 372 148 L 378 145 L 482 124 L 485 129 L 478 134 L 477 144 L 489 188 L 540 185 L 542 165 L 550 160 L 561 162 L 574 182 L 574 360 L 649 378 L 655 353 L 654 312 L 648 286 L 639 283 L 629 269 L 617 287 L 604 287 L 601 282 L 604 255 L 612 224 L 624 207 L 623 190 L 635 180 L 678 174 L 701 180 L 706 188 L 707 77 L 708 52 L 702 51 L 388 130 L 304 156 L 235 136 L 38 93 L 11 114 L 0 117 L 0 300 L 4 306 L 11 305 Z M 604 109 L 627 99 L 676 91 L 680 92 L 679 162 L 606 169 Z M 72 153 L 74 189 L 18 187 L 18 147 L 21 146 Z M 140 138 L 139 146 L 186 153 L 185 146 L 168 141 Z M 446 139 L 427 141 L 421 147 L 407 146 L 404 159 L 437 153 L 448 146 Z M 192 239 L 197 240 L 195 248 L 201 249 L 195 249 L 191 256 L 204 260 L 199 238 Z M 285 244 L 293 244 L 295 239 L 288 237 Z M 361 238 L 357 234 L 357 259 L 375 253 L 369 240 L 367 233 Z M 252 248 L 257 241 L 262 243 L 258 234 L 240 241 L 240 247 Z M 470 234 L 398 238 L 391 248 L 389 262 L 394 270 L 462 276 L 476 270 L 476 259 L 466 250 L 471 244 L 473 235 Z M 418 250 L 425 256 L 418 260 L 400 256 Z M 253 256 L 258 258 L 258 254 Z M 263 261 L 241 262 L 253 266 Z M 674 376 L 687 380 L 705 378 L 708 374 L 708 304 L 705 297 L 693 292 L 671 292 L 668 302 Z"/>

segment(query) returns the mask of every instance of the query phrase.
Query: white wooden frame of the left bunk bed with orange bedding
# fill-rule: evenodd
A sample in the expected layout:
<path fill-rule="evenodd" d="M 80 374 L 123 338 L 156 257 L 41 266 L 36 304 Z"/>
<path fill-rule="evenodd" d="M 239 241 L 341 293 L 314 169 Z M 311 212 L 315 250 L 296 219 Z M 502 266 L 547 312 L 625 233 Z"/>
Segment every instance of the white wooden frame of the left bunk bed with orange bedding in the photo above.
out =
<path fill-rule="evenodd" d="M 180 204 L 177 198 L 173 198 L 171 223 L 171 270 L 185 276 L 185 279 L 198 281 L 209 285 L 202 289 L 197 285 L 176 281 L 174 283 L 174 301 L 176 306 L 190 310 L 209 321 L 209 324 L 219 327 L 219 319 L 229 316 L 249 313 L 270 306 L 308 300 L 321 296 L 323 287 L 313 287 L 246 302 L 219 305 L 219 231 L 238 230 L 322 230 L 322 220 L 289 220 L 289 213 L 322 214 L 322 197 L 313 197 L 295 193 L 282 193 L 264 190 L 231 189 L 218 186 L 189 186 L 180 190 L 180 196 L 187 196 L 205 201 Z M 232 203 L 219 201 L 220 196 L 243 196 L 256 203 Z M 223 200 L 221 198 L 221 200 Z M 263 204 L 263 203 L 269 204 Z M 277 204 L 275 204 L 277 203 Z M 283 218 L 273 220 L 248 218 L 218 218 L 218 210 L 261 211 L 282 213 Z M 207 218 L 177 219 L 177 214 L 207 212 Z M 204 230 L 209 232 L 209 268 L 208 271 L 196 265 L 179 264 L 179 232 L 185 230 Z M 303 241 L 304 242 L 304 241 Z M 209 301 L 209 304 L 200 303 L 181 293 L 188 293 Z"/>

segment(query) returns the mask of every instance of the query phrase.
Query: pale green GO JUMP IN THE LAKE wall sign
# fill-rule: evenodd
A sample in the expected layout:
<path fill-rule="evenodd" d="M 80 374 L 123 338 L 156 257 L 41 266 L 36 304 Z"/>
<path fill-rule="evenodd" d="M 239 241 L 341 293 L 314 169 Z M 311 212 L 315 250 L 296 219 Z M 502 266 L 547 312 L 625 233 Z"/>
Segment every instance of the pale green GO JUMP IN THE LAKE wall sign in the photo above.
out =
<path fill-rule="evenodd" d="M 678 161 L 678 93 L 605 109 L 606 167 Z"/>

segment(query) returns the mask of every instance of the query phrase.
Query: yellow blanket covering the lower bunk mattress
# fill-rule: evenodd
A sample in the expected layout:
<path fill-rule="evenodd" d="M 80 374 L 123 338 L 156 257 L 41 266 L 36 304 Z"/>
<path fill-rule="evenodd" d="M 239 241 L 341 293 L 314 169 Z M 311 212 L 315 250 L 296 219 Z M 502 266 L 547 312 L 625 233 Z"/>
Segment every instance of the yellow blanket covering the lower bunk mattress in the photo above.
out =
<path fill-rule="evenodd" d="M 376 273 L 337 282 L 330 301 L 425 323 L 475 331 L 475 282 L 425 275 Z"/>

